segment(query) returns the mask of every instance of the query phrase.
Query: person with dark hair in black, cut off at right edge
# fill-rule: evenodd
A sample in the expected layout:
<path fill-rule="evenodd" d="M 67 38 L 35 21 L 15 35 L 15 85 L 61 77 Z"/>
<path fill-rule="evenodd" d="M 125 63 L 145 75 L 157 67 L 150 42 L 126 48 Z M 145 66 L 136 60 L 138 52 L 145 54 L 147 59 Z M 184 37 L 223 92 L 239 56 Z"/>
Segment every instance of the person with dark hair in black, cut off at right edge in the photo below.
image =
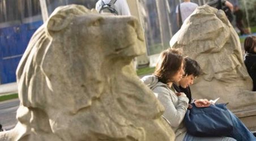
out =
<path fill-rule="evenodd" d="M 244 63 L 251 79 L 253 79 L 253 91 L 256 91 L 256 36 L 246 37 L 244 48 Z"/>

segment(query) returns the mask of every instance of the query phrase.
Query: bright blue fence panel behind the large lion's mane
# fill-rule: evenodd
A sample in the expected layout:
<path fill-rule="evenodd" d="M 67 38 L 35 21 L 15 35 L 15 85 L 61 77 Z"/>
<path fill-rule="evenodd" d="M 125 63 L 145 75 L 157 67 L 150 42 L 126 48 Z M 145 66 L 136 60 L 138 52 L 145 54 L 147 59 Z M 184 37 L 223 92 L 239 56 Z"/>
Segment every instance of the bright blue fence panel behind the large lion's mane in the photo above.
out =
<path fill-rule="evenodd" d="M 16 82 L 15 71 L 33 33 L 43 22 L 37 21 L 0 29 L 0 84 Z"/>

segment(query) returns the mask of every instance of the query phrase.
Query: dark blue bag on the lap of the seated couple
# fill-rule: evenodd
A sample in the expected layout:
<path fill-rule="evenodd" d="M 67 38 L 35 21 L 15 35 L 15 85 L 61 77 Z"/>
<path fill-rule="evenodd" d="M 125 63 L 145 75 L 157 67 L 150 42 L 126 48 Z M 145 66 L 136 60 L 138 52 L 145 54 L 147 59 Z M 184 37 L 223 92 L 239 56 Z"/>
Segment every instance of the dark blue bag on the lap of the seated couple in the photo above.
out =
<path fill-rule="evenodd" d="M 233 122 L 227 104 L 211 104 L 206 108 L 187 109 L 185 126 L 193 136 L 228 136 L 233 131 Z"/>

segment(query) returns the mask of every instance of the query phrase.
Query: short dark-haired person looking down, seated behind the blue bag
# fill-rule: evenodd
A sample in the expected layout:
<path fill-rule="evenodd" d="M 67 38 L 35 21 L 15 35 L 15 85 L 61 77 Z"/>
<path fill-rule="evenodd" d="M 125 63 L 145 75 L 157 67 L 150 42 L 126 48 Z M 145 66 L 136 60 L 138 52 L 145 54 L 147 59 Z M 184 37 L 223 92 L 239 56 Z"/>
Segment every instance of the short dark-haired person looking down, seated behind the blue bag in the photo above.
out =
<path fill-rule="evenodd" d="M 194 59 L 191 59 L 189 57 L 185 58 L 185 76 L 180 80 L 180 82 L 176 82 L 176 91 L 178 92 L 184 92 L 187 96 L 191 97 L 191 91 L 189 86 L 193 84 L 194 79 L 199 76 L 202 73 L 202 70 L 200 68 L 200 65 L 197 61 Z M 174 86 L 174 85 L 173 85 Z M 189 89 L 189 91 L 188 91 Z M 197 107 L 203 107 L 207 105 L 199 105 L 198 100 L 194 100 L 194 104 Z M 208 102 L 208 100 L 200 100 Z M 199 102 L 199 104 L 203 104 L 203 102 Z M 240 121 L 239 118 L 237 118 L 230 110 L 228 110 L 231 120 L 234 125 L 234 129 L 232 133 L 229 135 L 231 138 L 236 139 L 238 141 L 255 141 L 255 136 L 248 130 L 248 128 Z M 189 134 L 186 135 L 185 140 L 197 140 L 194 136 L 191 136 Z"/>

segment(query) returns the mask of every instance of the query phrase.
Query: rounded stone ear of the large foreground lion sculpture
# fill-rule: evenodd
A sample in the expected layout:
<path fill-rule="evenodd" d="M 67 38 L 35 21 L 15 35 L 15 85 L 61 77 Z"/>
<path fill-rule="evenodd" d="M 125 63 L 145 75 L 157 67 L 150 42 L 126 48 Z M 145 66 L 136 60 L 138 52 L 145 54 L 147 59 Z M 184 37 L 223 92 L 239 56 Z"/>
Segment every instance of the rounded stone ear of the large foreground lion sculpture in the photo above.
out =
<path fill-rule="evenodd" d="M 51 31 L 60 31 L 69 25 L 73 16 L 70 15 L 62 15 L 56 14 L 48 20 L 47 29 L 49 32 Z"/>

